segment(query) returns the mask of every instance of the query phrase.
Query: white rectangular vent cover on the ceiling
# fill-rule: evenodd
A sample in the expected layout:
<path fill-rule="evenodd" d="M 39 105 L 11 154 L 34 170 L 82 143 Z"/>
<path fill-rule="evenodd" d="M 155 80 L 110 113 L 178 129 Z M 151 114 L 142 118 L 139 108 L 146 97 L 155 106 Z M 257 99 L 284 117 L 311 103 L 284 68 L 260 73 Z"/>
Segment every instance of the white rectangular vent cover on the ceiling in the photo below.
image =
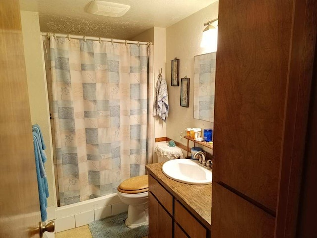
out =
<path fill-rule="evenodd" d="M 87 9 L 88 13 L 102 16 L 120 17 L 130 9 L 129 5 L 107 1 L 92 1 Z"/>

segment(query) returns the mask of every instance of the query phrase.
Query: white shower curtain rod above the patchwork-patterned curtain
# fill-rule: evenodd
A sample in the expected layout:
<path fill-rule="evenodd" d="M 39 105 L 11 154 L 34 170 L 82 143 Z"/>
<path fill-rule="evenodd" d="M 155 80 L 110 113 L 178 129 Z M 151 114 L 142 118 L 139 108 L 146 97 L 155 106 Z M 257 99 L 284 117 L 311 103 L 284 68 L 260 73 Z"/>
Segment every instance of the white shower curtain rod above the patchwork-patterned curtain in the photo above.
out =
<path fill-rule="evenodd" d="M 56 37 L 66 37 L 66 38 L 80 39 L 80 40 L 109 41 L 109 42 L 126 43 L 126 44 L 141 44 L 141 45 L 152 44 L 152 42 L 144 42 L 144 41 L 128 41 L 128 40 L 118 40 L 118 39 L 103 38 L 103 37 L 79 36 L 79 35 L 59 34 L 59 33 L 51 33 L 51 32 L 41 32 L 41 35 L 47 36 L 47 37 L 56 36 Z"/>

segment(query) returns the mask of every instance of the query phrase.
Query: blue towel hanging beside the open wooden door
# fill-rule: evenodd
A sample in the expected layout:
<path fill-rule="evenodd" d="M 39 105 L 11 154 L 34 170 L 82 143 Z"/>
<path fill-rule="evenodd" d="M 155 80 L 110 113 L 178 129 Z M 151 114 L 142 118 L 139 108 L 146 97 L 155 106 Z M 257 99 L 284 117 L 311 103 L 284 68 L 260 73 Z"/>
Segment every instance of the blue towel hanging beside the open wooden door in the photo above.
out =
<path fill-rule="evenodd" d="M 39 191 L 39 201 L 40 201 L 40 211 L 41 211 L 41 220 L 44 222 L 47 220 L 46 208 L 47 198 L 49 197 L 48 182 L 41 170 L 45 172 L 43 158 L 41 156 L 41 150 L 43 148 L 40 137 L 37 132 L 33 132 L 33 145 L 34 145 L 34 155 L 35 155 L 35 167 L 36 167 L 36 176 L 38 180 L 38 191 Z M 41 140 L 41 139 L 40 139 Z"/>

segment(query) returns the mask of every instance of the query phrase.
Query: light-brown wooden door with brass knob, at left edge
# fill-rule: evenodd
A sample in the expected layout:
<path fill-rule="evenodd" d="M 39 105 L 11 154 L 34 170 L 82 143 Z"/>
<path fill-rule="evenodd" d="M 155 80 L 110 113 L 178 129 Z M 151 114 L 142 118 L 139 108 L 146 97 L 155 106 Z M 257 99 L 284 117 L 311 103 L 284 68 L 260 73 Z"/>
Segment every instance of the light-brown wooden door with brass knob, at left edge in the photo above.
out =
<path fill-rule="evenodd" d="M 41 221 L 18 0 L 0 0 L 0 237 Z"/>

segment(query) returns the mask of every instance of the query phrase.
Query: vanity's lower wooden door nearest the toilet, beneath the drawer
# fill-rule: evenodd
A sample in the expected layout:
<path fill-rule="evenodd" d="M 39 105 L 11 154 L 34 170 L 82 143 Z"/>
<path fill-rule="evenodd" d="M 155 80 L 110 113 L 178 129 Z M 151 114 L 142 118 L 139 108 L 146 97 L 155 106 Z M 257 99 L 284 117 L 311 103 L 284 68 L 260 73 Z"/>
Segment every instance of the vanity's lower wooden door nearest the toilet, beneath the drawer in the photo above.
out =
<path fill-rule="evenodd" d="M 173 219 L 149 192 L 149 238 L 172 238 Z"/>

